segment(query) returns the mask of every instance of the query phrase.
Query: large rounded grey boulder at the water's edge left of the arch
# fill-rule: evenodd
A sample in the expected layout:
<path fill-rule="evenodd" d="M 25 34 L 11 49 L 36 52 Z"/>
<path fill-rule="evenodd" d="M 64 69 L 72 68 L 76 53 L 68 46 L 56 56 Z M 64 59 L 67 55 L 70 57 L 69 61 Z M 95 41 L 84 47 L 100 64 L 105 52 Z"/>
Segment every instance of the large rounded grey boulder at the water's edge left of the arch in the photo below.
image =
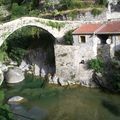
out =
<path fill-rule="evenodd" d="M 20 68 L 11 68 L 7 71 L 5 79 L 7 83 L 18 83 L 24 80 L 24 73 Z"/>

